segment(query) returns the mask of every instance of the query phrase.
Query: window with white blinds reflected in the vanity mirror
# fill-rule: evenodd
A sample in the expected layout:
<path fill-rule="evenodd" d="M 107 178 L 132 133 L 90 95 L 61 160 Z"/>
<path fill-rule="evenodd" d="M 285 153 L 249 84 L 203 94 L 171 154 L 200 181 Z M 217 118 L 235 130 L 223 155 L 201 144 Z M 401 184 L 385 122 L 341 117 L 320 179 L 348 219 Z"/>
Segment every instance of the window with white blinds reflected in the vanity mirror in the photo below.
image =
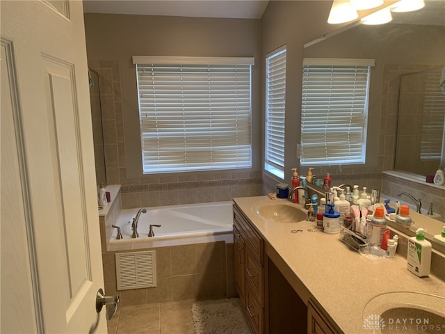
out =
<path fill-rule="evenodd" d="M 300 165 L 364 164 L 372 59 L 303 62 Z"/>

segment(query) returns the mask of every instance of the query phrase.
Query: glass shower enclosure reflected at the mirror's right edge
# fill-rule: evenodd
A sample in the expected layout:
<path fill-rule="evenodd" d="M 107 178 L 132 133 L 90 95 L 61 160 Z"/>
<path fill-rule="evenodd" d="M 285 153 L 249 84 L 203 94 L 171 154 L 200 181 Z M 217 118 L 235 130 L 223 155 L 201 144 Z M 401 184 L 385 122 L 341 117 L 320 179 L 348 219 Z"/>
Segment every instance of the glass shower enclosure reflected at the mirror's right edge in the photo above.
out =
<path fill-rule="evenodd" d="M 396 170 L 428 175 L 443 164 L 445 90 L 439 86 L 442 72 L 439 67 L 400 76 Z"/>

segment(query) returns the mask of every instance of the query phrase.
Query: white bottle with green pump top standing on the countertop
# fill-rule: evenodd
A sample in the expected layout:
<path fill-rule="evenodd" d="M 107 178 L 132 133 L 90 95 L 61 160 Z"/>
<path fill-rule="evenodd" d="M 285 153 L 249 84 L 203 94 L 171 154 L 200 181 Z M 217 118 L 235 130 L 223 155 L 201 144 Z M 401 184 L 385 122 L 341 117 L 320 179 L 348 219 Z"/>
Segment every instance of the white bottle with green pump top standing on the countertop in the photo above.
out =
<path fill-rule="evenodd" d="M 416 237 L 408 239 L 407 269 L 419 277 L 430 275 L 431 243 L 425 240 L 423 228 L 416 230 Z"/>

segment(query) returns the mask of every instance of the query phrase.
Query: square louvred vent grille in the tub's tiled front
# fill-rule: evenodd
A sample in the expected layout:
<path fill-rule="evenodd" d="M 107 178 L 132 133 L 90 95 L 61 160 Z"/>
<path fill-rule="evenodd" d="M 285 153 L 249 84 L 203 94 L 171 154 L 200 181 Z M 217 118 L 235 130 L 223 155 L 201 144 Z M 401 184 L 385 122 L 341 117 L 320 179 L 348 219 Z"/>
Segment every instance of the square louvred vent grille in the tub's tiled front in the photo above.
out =
<path fill-rule="evenodd" d="M 156 287 L 156 250 L 115 256 L 118 290 Z"/>

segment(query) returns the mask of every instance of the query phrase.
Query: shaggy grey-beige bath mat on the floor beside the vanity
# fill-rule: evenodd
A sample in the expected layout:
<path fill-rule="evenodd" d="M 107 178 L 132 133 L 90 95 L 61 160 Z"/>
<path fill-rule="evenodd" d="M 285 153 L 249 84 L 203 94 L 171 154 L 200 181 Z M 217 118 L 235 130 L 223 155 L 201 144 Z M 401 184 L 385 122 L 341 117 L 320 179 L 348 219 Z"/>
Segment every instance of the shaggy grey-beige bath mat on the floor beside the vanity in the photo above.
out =
<path fill-rule="evenodd" d="M 238 298 L 197 301 L 192 315 L 195 334 L 252 334 Z"/>

